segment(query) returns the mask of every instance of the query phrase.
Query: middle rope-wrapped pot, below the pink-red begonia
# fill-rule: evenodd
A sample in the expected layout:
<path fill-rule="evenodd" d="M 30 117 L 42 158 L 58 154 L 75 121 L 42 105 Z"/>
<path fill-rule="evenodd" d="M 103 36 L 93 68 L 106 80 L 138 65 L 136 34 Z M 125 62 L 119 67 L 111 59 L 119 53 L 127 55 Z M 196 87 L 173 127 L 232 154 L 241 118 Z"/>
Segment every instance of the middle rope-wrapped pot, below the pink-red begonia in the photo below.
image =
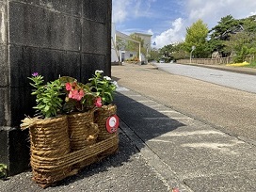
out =
<path fill-rule="evenodd" d="M 98 124 L 93 123 L 94 111 L 84 113 L 73 113 L 68 115 L 69 136 L 71 151 L 81 150 L 89 145 L 95 144 L 99 133 Z M 84 168 L 96 161 L 96 156 L 88 158 L 84 162 L 75 165 L 76 168 Z"/>

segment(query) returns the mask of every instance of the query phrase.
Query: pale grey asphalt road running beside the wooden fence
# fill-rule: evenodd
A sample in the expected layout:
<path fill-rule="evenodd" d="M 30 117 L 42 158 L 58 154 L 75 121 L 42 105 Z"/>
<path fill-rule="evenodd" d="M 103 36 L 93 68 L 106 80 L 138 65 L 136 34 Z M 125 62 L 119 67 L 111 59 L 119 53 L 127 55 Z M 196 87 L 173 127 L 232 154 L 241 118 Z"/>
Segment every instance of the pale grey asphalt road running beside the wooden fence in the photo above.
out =
<path fill-rule="evenodd" d="M 256 93 L 256 75 L 237 72 L 225 72 L 197 66 L 181 65 L 174 63 L 154 63 L 158 69 L 214 83 L 228 88 L 237 88 Z"/>

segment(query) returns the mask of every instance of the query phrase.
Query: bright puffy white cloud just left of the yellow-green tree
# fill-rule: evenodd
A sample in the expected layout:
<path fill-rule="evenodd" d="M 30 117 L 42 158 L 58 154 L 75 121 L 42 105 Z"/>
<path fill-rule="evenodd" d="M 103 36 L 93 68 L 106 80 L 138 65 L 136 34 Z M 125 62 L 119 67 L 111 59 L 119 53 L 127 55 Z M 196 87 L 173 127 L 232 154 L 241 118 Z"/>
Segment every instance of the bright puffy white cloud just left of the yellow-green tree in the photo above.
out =
<path fill-rule="evenodd" d="M 184 20 L 182 18 L 178 18 L 172 23 L 171 28 L 162 32 L 160 35 L 153 37 L 152 41 L 156 43 L 157 48 L 181 41 L 184 39 L 184 37 L 181 35 L 182 30 L 184 30 Z"/>

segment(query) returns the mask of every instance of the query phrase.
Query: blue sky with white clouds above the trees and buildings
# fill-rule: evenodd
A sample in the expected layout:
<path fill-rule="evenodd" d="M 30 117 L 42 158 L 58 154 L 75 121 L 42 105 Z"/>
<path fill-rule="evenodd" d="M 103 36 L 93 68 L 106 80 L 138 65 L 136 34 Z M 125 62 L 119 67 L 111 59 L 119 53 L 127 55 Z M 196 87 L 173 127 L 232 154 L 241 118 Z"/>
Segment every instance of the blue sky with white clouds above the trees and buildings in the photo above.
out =
<path fill-rule="evenodd" d="M 255 14 L 256 0 L 112 0 L 116 30 L 151 34 L 155 48 L 183 41 L 185 29 L 199 19 L 211 29 L 227 15 Z"/>

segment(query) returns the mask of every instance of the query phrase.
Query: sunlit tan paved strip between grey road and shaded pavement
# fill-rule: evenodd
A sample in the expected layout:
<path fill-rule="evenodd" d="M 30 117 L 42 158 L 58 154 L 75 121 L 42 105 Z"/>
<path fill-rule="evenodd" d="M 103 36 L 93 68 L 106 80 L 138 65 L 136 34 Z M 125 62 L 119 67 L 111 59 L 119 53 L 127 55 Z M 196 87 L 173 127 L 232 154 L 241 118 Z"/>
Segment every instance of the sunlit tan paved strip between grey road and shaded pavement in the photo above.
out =
<path fill-rule="evenodd" d="M 202 76 L 203 72 L 194 73 Z M 113 66 L 112 76 L 122 87 L 135 90 L 232 136 L 252 143 L 256 141 L 256 94 L 251 91 L 227 88 L 227 85 L 219 86 L 174 72 L 158 71 L 152 65 Z M 214 75 L 208 78 L 211 76 Z"/>

